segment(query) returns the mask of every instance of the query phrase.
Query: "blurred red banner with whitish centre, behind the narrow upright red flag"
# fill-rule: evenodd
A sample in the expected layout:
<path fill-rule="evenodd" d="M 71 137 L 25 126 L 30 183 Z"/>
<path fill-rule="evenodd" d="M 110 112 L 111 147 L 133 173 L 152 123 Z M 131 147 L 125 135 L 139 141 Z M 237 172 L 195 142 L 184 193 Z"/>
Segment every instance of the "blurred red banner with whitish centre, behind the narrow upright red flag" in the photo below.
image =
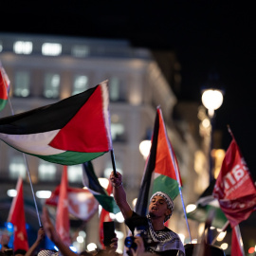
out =
<path fill-rule="evenodd" d="M 57 207 L 61 186 L 58 186 L 46 199 L 46 205 Z M 88 221 L 99 209 L 99 203 L 87 189 L 67 187 L 67 202 L 69 217 Z"/>

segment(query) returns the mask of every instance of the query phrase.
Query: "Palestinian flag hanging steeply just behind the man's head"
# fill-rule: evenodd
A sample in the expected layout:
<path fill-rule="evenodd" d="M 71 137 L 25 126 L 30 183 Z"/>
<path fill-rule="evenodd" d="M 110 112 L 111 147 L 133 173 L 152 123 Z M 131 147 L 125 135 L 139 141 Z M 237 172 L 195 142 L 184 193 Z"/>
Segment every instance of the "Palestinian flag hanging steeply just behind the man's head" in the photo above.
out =
<path fill-rule="evenodd" d="M 160 107 L 156 109 L 152 146 L 137 197 L 136 212 L 143 216 L 146 215 L 148 210 L 152 174 L 155 174 L 152 193 L 166 192 L 174 200 L 179 194 L 179 186 L 181 187 L 182 184 L 176 157 L 167 136 Z"/>

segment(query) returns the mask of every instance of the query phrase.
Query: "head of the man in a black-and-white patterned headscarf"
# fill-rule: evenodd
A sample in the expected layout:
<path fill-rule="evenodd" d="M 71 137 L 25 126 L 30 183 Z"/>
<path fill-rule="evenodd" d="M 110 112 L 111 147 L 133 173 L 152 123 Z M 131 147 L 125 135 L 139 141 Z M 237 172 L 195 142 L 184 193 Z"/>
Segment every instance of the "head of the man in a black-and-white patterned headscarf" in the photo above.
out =
<path fill-rule="evenodd" d="M 173 214 L 174 201 L 165 192 L 155 192 L 150 198 L 149 214 L 152 217 L 164 216 L 166 222 Z"/>

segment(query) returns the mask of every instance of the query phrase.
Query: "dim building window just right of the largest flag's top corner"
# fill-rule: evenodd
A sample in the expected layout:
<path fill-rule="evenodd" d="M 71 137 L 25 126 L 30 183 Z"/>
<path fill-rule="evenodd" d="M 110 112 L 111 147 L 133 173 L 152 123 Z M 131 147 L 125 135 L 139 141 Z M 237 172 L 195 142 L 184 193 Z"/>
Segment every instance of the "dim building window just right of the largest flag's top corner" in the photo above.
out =
<path fill-rule="evenodd" d="M 110 101 L 125 101 L 124 82 L 118 77 L 112 77 L 109 81 L 109 98 Z"/>

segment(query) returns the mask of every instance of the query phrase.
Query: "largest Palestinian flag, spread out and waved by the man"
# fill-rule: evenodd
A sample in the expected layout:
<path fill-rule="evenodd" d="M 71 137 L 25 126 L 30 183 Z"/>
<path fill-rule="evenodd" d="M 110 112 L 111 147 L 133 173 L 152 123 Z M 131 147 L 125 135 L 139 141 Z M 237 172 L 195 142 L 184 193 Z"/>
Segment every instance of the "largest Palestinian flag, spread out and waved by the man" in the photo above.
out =
<path fill-rule="evenodd" d="M 112 149 L 107 81 L 22 114 L 0 119 L 0 139 L 46 161 L 75 165 Z"/>

